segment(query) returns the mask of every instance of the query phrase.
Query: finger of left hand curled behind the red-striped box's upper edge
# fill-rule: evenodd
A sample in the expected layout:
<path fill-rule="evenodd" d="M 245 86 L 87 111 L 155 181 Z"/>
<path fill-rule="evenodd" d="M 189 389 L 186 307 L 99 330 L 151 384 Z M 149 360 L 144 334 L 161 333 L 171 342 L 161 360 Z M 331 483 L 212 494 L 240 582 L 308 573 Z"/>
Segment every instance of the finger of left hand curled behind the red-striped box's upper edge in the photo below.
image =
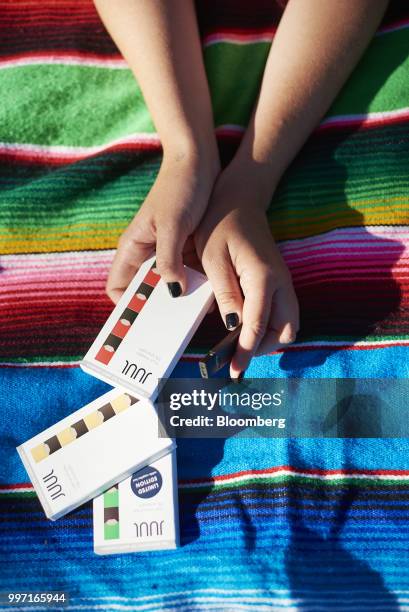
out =
<path fill-rule="evenodd" d="M 129 234 L 122 234 L 118 242 L 105 286 L 106 293 L 116 304 L 143 262 L 154 252 L 151 244 L 136 241 Z"/>

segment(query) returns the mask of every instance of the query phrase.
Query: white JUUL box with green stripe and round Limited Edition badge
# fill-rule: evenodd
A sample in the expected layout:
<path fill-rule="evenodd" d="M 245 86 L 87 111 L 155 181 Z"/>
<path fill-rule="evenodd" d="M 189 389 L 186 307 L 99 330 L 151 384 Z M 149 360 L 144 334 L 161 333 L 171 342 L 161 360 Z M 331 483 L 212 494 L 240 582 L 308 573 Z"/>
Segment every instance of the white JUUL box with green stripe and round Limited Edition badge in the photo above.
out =
<path fill-rule="evenodd" d="M 138 470 L 94 499 L 99 555 L 169 550 L 179 545 L 176 453 Z"/>

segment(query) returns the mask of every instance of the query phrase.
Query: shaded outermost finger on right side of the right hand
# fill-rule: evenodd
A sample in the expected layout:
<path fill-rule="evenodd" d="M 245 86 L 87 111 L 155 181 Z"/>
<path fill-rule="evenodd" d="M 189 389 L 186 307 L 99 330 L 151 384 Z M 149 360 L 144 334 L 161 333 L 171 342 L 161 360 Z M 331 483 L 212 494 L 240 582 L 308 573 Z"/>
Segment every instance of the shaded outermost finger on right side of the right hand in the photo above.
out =
<path fill-rule="evenodd" d="M 267 333 L 256 355 L 271 353 L 294 342 L 299 326 L 298 300 L 292 285 L 277 289 L 272 300 Z"/>

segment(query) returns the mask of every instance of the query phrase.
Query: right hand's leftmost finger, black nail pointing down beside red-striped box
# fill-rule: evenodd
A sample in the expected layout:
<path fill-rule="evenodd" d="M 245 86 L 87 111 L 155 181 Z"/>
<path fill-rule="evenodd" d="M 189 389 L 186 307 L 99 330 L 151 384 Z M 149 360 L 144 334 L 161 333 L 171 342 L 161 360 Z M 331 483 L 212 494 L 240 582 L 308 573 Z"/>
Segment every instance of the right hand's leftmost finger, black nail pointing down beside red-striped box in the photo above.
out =
<path fill-rule="evenodd" d="M 231 331 L 240 325 L 243 296 L 230 256 L 218 259 L 203 259 L 203 268 L 210 281 L 223 322 Z"/>

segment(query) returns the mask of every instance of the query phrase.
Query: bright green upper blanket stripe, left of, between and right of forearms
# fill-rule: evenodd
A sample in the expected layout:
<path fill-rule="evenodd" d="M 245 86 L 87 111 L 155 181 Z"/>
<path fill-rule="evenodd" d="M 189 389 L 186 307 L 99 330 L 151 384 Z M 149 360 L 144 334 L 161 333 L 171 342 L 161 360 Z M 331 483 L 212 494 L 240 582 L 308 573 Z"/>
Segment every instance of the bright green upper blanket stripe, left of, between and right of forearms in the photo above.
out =
<path fill-rule="evenodd" d="M 328 115 L 407 106 L 408 46 L 408 29 L 376 37 Z M 268 43 L 205 49 L 217 125 L 246 125 L 268 51 Z M 3 142 L 92 146 L 154 131 L 129 70 L 19 66 L 0 70 L 0 88 Z"/>

